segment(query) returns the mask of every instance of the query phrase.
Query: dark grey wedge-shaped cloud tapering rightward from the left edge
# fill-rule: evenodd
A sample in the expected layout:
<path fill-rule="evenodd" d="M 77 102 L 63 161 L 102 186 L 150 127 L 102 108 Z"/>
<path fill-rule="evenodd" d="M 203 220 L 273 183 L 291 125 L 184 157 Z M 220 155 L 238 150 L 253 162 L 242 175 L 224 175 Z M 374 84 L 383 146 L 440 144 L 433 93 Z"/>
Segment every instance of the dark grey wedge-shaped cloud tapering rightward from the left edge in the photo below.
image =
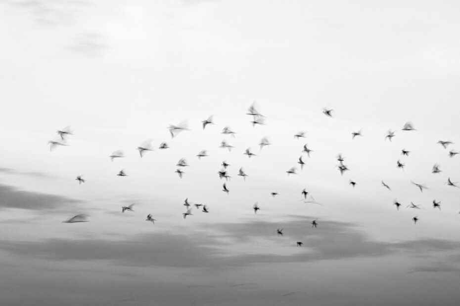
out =
<path fill-rule="evenodd" d="M 0 209 L 21 208 L 31 210 L 60 210 L 67 204 L 79 202 L 81 201 L 62 195 L 22 191 L 11 186 L 0 185 Z"/>

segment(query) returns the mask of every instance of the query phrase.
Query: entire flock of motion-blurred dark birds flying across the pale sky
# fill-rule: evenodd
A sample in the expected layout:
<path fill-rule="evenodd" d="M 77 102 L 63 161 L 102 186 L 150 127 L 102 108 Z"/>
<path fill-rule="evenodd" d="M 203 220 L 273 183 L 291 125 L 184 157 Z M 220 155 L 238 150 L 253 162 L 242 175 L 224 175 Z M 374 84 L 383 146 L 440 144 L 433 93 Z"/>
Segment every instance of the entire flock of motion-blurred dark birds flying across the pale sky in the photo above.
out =
<path fill-rule="evenodd" d="M 332 112 L 333 110 L 332 109 L 326 109 L 324 108 L 322 113 L 328 117 L 333 117 L 332 115 Z M 252 116 L 252 120 L 250 121 L 252 123 L 253 126 L 255 125 L 261 125 L 261 124 L 265 124 L 265 116 L 260 114 L 257 109 L 256 109 L 256 106 L 255 104 L 252 104 L 249 109 L 248 109 L 248 112 L 246 113 L 246 115 L 250 115 Z M 202 121 L 202 127 L 203 127 L 203 130 L 208 126 L 208 125 L 213 125 L 214 122 L 213 122 L 213 116 L 209 116 L 207 119 L 203 120 Z M 168 127 L 168 130 L 171 134 L 171 137 L 174 138 L 176 137 L 179 133 L 181 133 L 182 131 L 185 131 L 185 130 L 189 130 L 187 128 L 187 122 L 184 121 L 184 122 L 181 122 L 179 123 L 178 125 L 170 125 Z M 403 128 L 402 128 L 403 131 L 415 131 L 415 128 L 414 128 L 414 125 L 411 123 L 411 122 L 407 122 L 406 124 L 404 124 Z M 49 149 L 50 151 L 54 150 L 57 146 L 68 146 L 68 143 L 67 143 L 67 140 L 68 138 L 73 135 L 73 132 L 72 130 L 70 129 L 70 127 L 66 127 L 64 129 L 61 129 L 61 130 L 57 130 L 57 136 L 55 137 L 54 140 L 50 140 L 48 142 L 49 144 Z M 231 128 L 229 126 L 226 126 L 223 131 L 222 131 L 222 134 L 225 134 L 225 135 L 229 135 L 231 137 L 235 137 L 235 132 L 231 130 Z M 352 135 L 352 139 L 355 139 L 356 137 L 362 137 L 363 134 L 362 134 L 362 131 L 359 130 L 359 131 L 354 131 L 351 133 Z M 392 141 L 392 138 L 395 137 L 395 131 L 394 130 L 389 130 L 387 133 L 386 133 L 386 136 L 384 138 L 384 140 L 388 140 L 388 141 Z M 294 134 L 294 139 L 301 139 L 301 138 L 305 138 L 305 132 L 303 131 L 300 131 L 296 134 Z M 438 144 L 440 144 L 444 149 L 447 149 L 447 147 L 451 144 L 453 144 L 451 141 L 438 141 Z M 270 146 L 271 143 L 269 141 L 269 138 L 268 137 L 264 137 L 262 138 L 262 140 L 260 141 L 259 143 L 259 146 L 260 146 L 260 149 L 262 150 L 264 147 L 266 146 Z M 166 143 L 166 142 L 162 142 L 160 144 L 160 146 L 158 147 L 160 150 L 166 150 L 166 149 L 169 149 L 169 145 Z M 226 140 L 223 140 L 222 143 L 221 143 L 221 146 L 220 148 L 223 148 L 223 149 L 227 149 L 229 150 L 229 152 L 234 148 L 233 146 L 230 146 L 228 144 L 228 142 Z M 151 145 L 151 142 L 150 141 L 146 141 L 144 142 L 143 144 L 141 144 L 140 146 L 138 146 L 137 148 L 138 150 L 138 153 L 139 153 L 139 156 L 140 158 L 142 158 L 146 153 L 148 153 L 149 151 L 153 151 L 153 147 Z M 306 155 L 308 157 L 310 157 L 310 153 L 313 152 L 311 149 L 308 148 L 307 144 L 305 144 L 303 146 L 303 150 L 302 150 L 302 153 L 306 153 Z M 406 150 L 406 149 L 402 149 L 401 150 L 401 155 L 403 156 L 409 156 L 411 152 Z M 257 154 L 251 152 L 251 149 L 248 148 L 244 151 L 243 153 L 244 155 L 247 155 L 248 158 L 251 158 L 253 156 L 257 156 Z M 454 150 L 451 150 L 449 152 L 449 157 L 454 157 L 455 155 L 459 154 L 459 152 L 456 152 Z M 202 157 L 206 157 L 208 156 L 208 153 L 206 150 L 202 150 L 201 152 L 199 152 L 197 155 L 196 155 L 199 159 L 201 159 Z M 122 157 L 125 157 L 125 153 L 121 150 L 117 150 L 115 152 L 113 152 L 111 155 L 108 156 L 112 161 L 115 159 L 115 158 L 122 158 Z M 341 175 L 344 174 L 345 171 L 348 171 L 350 170 L 348 168 L 348 166 L 344 163 L 345 161 L 345 158 L 342 156 L 342 154 L 338 154 L 337 155 L 337 161 L 339 162 L 338 165 L 336 166 L 338 171 L 340 172 Z M 303 170 L 303 167 L 304 167 L 304 164 L 305 162 L 303 161 L 303 156 L 300 156 L 297 163 L 300 165 L 300 168 L 301 170 Z M 178 163 L 176 164 L 177 166 L 177 170 L 175 171 L 178 175 L 179 175 L 179 178 L 183 178 L 185 172 L 184 172 L 184 168 L 189 166 L 188 163 L 187 163 L 187 160 L 185 158 L 181 158 Z M 218 171 L 218 175 L 219 175 L 219 178 L 220 179 L 225 179 L 226 182 L 228 182 L 231 178 L 231 176 L 229 175 L 228 171 L 227 171 L 227 168 L 228 166 L 230 166 L 229 163 L 227 163 L 226 160 L 224 160 L 221 164 L 222 166 L 222 169 Z M 404 170 L 404 166 L 405 164 L 403 162 L 401 162 L 401 160 L 397 160 L 396 162 L 396 167 L 397 168 L 400 168 L 400 169 L 403 169 Z M 289 170 L 286 171 L 287 175 L 291 175 L 291 174 L 297 174 L 297 168 L 296 167 L 292 167 L 290 168 Z M 433 174 L 437 174 L 437 173 L 440 173 L 441 170 L 440 170 L 440 166 L 438 164 L 435 164 L 433 165 L 433 168 L 432 168 L 432 173 Z M 241 176 L 244 180 L 246 180 L 246 177 L 248 176 L 244 169 L 243 168 L 240 168 L 238 170 L 238 176 Z M 124 171 L 124 169 L 120 170 L 117 174 L 117 176 L 128 176 L 126 174 L 126 172 Z M 76 177 L 76 179 L 78 181 L 79 184 L 84 184 L 86 181 L 85 179 L 83 178 L 82 175 L 79 175 Z M 223 183 L 223 186 L 222 186 L 222 191 L 226 192 L 227 194 L 230 192 L 229 190 L 229 187 L 227 186 L 226 182 Z M 423 192 L 423 190 L 427 189 L 426 186 L 422 185 L 422 184 L 418 184 L 418 183 L 415 183 L 415 182 L 412 182 L 411 183 L 416 186 L 420 192 Z M 353 180 L 350 180 L 349 181 L 349 184 L 355 188 L 355 186 L 357 185 L 357 182 L 353 181 Z M 385 182 L 381 181 L 381 184 L 384 188 L 388 189 L 389 191 L 391 191 L 391 187 L 389 185 L 387 185 Z M 457 185 L 457 182 L 452 182 L 451 178 L 449 177 L 448 178 L 448 181 L 445 183 L 447 184 L 448 186 L 451 186 L 451 187 L 454 187 L 454 188 L 460 188 L 458 185 Z M 320 204 L 318 202 L 315 201 L 315 199 L 312 197 L 312 195 L 306 190 L 306 189 L 303 189 L 301 191 L 301 194 L 303 196 L 303 200 L 305 203 L 316 203 L 316 204 Z M 271 195 L 273 197 L 276 197 L 276 195 L 278 195 L 278 192 L 271 192 Z M 400 202 L 398 202 L 396 199 L 393 201 L 393 204 L 396 206 L 396 208 L 399 210 L 399 208 L 402 206 L 402 204 Z M 441 201 L 436 201 L 436 199 L 434 199 L 432 201 L 432 204 L 433 204 L 433 208 L 434 209 L 439 209 L 441 210 Z M 200 210 L 204 213 L 209 213 L 209 208 L 207 205 L 203 205 L 201 203 L 191 203 L 189 202 L 188 198 L 186 198 L 184 200 L 184 204 L 183 206 L 185 207 L 186 211 L 184 213 L 182 213 L 184 219 L 187 218 L 187 216 L 192 216 L 192 208 L 191 206 L 194 206 L 197 210 Z M 321 204 L 320 204 L 321 205 Z M 121 208 L 121 211 L 122 213 L 125 213 L 126 211 L 129 211 L 129 212 L 133 212 L 134 209 L 133 209 L 133 206 L 134 204 L 131 204 L 131 205 L 128 205 L 128 206 L 122 206 Z M 412 209 L 415 209 L 415 210 L 418 210 L 420 209 L 420 205 L 416 205 L 414 204 L 413 202 L 411 202 L 410 205 L 407 206 L 408 208 L 412 208 Z M 261 208 L 259 207 L 259 204 L 258 202 L 256 202 L 254 205 L 253 205 L 253 210 L 254 210 L 254 213 L 257 214 L 257 211 L 260 210 Z M 412 221 L 414 222 L 414 224 L 417 223 L 417 221 L 419 220 L 418 216 L 414 216 L 412 218 Z M 153 216 L 151 214 L 148 214 L 145 221 L 148 221 L 148 222 L 151 222 L 152 224 L 155 223 L 155 219 L 153 219 Z M 86 214 L 79 214 L 79 215 L 76 215 L 66 221 L 63 221 L 64 223 L 78 223 L 78 222 L 88 222 L 88 215 Z M 315 219 L 313 221 L 311 221 L 311 225 L 312 225 L 312 228 L 317 228 L 317 226 L 319 225 L 318 224 L 318 219 Z M 280 236 L 283 236 L 283 229 L 276 229 L 276 233 L 277 235 L 280 235 Z M 297 241 L 297 246 L 302 246 L 303 242 L 302 241 Z"/>

